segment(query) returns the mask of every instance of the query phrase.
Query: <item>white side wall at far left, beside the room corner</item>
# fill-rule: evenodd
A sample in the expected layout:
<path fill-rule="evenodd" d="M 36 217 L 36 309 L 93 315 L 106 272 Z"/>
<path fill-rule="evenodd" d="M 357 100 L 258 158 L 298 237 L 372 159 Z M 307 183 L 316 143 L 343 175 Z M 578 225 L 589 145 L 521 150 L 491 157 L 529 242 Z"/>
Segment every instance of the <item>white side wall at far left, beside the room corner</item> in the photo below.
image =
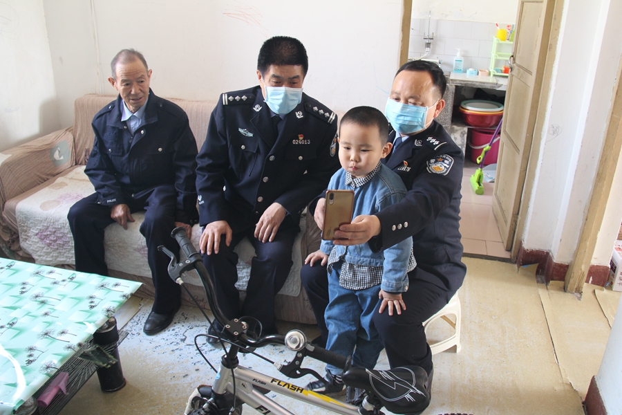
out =
<path fill-rule="evenodd" d="M 59 129 L 41 0 L 0 2 L 0 151 Z"/>

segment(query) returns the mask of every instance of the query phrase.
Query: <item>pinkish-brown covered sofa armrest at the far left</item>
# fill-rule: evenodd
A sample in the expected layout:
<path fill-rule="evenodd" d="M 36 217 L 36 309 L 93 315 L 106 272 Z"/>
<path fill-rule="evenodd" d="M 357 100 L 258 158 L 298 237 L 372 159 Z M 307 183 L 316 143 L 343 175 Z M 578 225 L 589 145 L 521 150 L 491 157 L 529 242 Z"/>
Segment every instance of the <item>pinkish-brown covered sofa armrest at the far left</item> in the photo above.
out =
<path fill-rule="evenodd" d="M 73 127 L 0 152 L 0 212 L 6 201 L 27 192 L 75 164 Z M 8 229 L 0 215 L 0 236 Z"/>

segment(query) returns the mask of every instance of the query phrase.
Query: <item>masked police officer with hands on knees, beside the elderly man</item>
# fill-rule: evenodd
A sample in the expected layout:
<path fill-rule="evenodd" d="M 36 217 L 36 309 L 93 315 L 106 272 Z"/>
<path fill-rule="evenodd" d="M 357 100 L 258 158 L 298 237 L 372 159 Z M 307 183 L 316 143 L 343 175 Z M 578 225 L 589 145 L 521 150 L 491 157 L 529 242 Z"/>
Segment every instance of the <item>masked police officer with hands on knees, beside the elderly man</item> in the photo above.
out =
<path fill-rule="evenodd" d="M 220 96 L 197 157 L 203 263 L 225 317 L 254 317 L 264 333 L 276 332 L 274 296 L 292 267 L 300 213 L 339 168 L 337 116 L 303 93 L 307 69 L 301 42 L 268 39 L 259 85 Z M 233 250 L 244 237 L 256 257 L 241 306 Z"/>

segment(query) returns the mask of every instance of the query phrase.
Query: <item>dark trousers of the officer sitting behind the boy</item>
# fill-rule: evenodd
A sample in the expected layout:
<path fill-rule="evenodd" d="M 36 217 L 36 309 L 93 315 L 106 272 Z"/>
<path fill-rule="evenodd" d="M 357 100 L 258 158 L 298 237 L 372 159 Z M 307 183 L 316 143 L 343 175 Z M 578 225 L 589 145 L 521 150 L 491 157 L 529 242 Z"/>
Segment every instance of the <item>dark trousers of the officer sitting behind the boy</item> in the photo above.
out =
<path fill-rule="evenodd" d="M 422 367 L 429 374 L 432 369 L 432 352 L 422 323 L 446 306 L 453 293 L 417 279 L 418 273 L 425 271 L 417 267 L 408 273 L 408 291 L 402 294 L 406 310 L 402 311 L 402 315 L 395 312 L 388 315 L 387 310 L 380 314 L 378 305 L 374 311 L 373 322 L 386 350 L 390 367 L 415 365 Z M 324 321 L 324 311 L 328 306 L 326 266 L 304 265 L 300 277 L 322 336 L 326 333 L 328 338 L 328 329 Z"/>

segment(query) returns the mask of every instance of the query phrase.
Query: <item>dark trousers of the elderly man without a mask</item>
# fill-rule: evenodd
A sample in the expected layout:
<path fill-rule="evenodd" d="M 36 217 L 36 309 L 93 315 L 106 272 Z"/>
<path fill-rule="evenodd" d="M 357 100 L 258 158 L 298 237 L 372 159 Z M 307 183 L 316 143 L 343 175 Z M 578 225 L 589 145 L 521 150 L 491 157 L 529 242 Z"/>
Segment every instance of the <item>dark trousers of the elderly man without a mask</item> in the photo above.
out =
<path fill-rule="evenodd" d="M 132 213 L 145 211 L 140 233 L 147 241 L 147 261 L 156 291 L 152 311 L 169 313 L 180 303 L 180 286 L 169 277 L 169 257 L 159 252 L 158 246 L 166 246 L 179 257 L 179 246 L 171 238 L 171 231 L 175 228 L 177 192 L 173 185 L 162 185 L 133 197 L 126 196 Z M 110 209 L 110 206 L 97 203 L 96 193 L 70 208 L 67 219 L 73 234 L 77 271 L 108 275 L 104 260 L 104 229 L 115 223 L 110 217 Z"/>

